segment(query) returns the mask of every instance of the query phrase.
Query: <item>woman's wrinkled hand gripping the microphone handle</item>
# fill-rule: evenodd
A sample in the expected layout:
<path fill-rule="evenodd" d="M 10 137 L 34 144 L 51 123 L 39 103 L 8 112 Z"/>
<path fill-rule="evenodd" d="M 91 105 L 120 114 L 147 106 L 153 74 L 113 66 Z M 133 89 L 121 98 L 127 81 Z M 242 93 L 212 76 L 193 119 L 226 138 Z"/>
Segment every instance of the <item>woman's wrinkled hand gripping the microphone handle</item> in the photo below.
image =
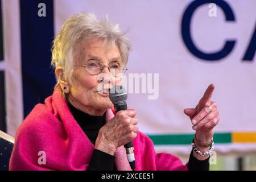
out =
<path fill-rule="evenodd" d="M 131 142 L 138 133 L 136 111 L 126 109 L 118 111 L 115 117 L 104 125 L 95 142 L 95 149 L 114 155 L 118 147 Z"/>

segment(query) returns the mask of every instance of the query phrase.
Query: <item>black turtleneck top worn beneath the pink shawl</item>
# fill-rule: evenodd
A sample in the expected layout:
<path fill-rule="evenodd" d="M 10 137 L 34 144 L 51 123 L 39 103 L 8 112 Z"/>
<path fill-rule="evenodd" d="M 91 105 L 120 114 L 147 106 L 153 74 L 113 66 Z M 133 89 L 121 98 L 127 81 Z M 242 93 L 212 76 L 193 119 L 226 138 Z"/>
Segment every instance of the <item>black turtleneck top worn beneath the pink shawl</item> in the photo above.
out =
<path fill-rule="evenodd" d="M 69 102 L 68 102 L 68 106 L 69 106 L 69 109 L 71 110 L 71 113 L 73 114 L 73 117 L 76 119 L 76 122 L 84 131 L 86 136 L 90 139 L 90 142 L 92 142 L 94 145 L 98 137 L 98 131 L 106 123 L 105 121 L 106 113 L 104 113 L 102 116 L 93 116 L 93 115 L 86 114 L 79 109 L 76 109 L 76 107 L 71 105 Z M 188 161 L 188 170 L 208 171 L 209 170 L 208 160 L 209 159 L 197 160 L 193 156 L 193 151 L 191 151 L 191 154 L 189 156 L 189 161 Z M 115 167 L 114 162 L 115 162 L 115 157 L 113 155 L 94 149 L 93 155 L 87 170 L 116 171 L 117 168 Z"/>

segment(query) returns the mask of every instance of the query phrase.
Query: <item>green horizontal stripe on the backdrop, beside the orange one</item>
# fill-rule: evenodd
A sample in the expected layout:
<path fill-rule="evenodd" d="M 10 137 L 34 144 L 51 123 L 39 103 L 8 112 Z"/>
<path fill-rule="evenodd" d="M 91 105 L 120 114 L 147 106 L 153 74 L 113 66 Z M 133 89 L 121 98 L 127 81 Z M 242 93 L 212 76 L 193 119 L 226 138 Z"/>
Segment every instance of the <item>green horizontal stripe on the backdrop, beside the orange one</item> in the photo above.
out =
<path fill-rule="evenodd" d="M 155 145 L 161 144 L 191 144 L 195 134 L 164 134 L 148 135 Z M 232 143 L 231 133 L 214 134 L 214 143 Z"/>

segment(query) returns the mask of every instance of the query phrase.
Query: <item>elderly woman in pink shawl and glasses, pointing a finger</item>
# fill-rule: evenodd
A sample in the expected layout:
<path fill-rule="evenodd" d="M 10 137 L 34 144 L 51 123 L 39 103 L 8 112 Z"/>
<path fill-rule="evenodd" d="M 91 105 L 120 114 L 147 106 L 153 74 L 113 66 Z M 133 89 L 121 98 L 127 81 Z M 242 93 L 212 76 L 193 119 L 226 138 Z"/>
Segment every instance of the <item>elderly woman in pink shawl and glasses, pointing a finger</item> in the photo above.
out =
<path fill-rule="evenodd" d="M 133 141 L 136 170 L 208 170 L 219 121 L 217 106 L 210 101 L 214 86 L 195 109 L 184 110 L 196 131 L 189 162 L 183 165 L 174 155 L 156 154 L 152 140 L 138 129 L 136 111 L 115 113 L 106 93 L 120 84 L 115 78 L 126 70 L 129 51 L 118 25 L 93 14 L 71 16 L 53 43 L 55 90 L 16 132 L 10 169 L 131 170 L 123 145 Z"/>

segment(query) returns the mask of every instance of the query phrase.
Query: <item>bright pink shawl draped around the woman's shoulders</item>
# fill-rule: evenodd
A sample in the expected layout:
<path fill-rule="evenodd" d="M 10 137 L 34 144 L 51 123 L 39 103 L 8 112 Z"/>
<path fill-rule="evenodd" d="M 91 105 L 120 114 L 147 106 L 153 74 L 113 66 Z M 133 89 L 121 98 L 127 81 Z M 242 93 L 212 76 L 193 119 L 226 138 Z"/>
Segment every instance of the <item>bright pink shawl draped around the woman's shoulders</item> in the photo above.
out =
<path fill-rule="evenodd" d="M 106 111 L 106 122 L 114 117 Z M 154 151 L 152 140 L 139 132 L 133 140 L 136 170 L 187 170 L 179 158 Z M 57 87 L 45 104 L 38 104 L 16 131 L 10 170 L 86 170 L 94 145 L 69 111 Z M 42 151 L 46 164 L 39 164 Z M 125 148 L 114 154 L 118 170 L 131 170 Z"/>

